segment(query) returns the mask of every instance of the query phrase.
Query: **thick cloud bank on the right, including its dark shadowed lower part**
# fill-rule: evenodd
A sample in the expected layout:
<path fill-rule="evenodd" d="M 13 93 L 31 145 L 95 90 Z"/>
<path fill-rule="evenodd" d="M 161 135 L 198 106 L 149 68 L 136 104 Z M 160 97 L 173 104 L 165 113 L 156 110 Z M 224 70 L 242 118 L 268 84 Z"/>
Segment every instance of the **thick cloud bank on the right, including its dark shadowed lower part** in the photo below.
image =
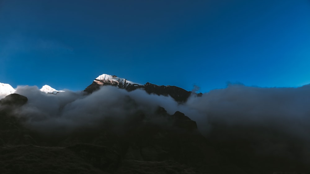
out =
<path fill-rule="evenodd" d="M 193 117 L 195 114 L 185 113 L 197 121 L 198 127 L 209 126 L 202 133 L 215 144 L 309 163 L 309 97 L 309 86 L 260 88 L 235 84 L 188 100 L 186 107 L 200 113 L 200 121 Z"/>

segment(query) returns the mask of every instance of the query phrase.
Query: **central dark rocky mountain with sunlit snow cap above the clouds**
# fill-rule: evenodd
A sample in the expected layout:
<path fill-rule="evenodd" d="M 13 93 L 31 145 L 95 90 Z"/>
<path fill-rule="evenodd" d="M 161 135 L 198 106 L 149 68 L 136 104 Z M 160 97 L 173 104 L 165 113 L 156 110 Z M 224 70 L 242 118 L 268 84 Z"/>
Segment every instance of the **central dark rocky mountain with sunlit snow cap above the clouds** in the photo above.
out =
<path fill-rule="evenodd" d="M 126 89 L 127 91 L 133 91 L 136 89 L 142 89 L 146 91 L 148 94 L 157 94 L 157 95 L 164 95 L 168 96 L 170 95 L 175 101 L 179 103 L 186 102 L 188 97 L 191 94 L 201 96 L 202 93 L 196 94 L 191 91 L 186 91 L 180 87 L 176 86 L 164 86 L 164 85 L 155 85 L 152 83 L 145 83 L 144 85 L 141 85 L 139 83 L 135 83 L 132 81 L 129 81 L 125 78 L 119 78 L 116 75 L 108 75 L 108 74 L 102 74 L 98 76 L 91 85 L 86 87 L 84 92 L 87 94 L 91 94 L 94 91 L 99 90 L 101 86 L 105 85 L 111 85 L 111 86 L 116 86 L 121 89 Z"/>

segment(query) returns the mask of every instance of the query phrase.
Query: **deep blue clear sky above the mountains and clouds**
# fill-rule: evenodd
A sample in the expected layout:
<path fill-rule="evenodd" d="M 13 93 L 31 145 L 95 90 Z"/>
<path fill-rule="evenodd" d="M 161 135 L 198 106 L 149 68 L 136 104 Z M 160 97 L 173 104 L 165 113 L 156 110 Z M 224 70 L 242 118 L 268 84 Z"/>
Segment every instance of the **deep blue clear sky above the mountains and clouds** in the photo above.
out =
<path fill-rule="evenodd" d="M 0 82 L 310 83 L 309 0 L 0 0 Z"/>

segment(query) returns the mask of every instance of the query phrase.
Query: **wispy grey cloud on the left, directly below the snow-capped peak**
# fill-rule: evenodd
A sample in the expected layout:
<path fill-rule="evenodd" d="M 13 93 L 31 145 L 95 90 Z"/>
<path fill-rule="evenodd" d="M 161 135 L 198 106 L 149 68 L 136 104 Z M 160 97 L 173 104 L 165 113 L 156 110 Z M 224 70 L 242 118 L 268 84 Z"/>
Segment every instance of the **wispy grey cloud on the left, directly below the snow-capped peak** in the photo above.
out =
<path fill-rule="evenodd" d="M 143 90 L 127 92 L 112 86 L 91 95 L 72 91 L 51 95 L 36 86 L 19 86 L 16 93 L 28 97 L 28 103 L 16 112 L 27 118 L 28 127 L 41 132 L 94 126 L 111 116 L 122 120 L 136 112 L 153 114 L 158 106 L 169 106 L 167 110 L 173 114 L 178 107 L 170 96 L 148 95 Z"/>

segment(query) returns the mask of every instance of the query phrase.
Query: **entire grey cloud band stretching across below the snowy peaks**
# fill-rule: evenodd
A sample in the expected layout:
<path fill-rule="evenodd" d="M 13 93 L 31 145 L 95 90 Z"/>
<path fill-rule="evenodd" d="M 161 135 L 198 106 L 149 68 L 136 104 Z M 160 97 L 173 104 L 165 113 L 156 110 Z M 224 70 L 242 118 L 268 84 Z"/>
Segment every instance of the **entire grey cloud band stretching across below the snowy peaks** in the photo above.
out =
<path fill-rule="evenodd" d="M 285 132 L 302 135 L 310 127 L 310 87 L 259 88 L 229 85 L 178 104 L 170 96 L 149 95 L 143 90 L 128 92 L 104 86 L 91 95 L 67 91 L 57 95 L 44 94 L 38 87 L 19 86 L 16 93 L 29 99 L 22 109 L 31 117 L 64 117 L 84 120 L 106 115 L 128 115 L 136 110 L 154 112 L 158 106 L 169 114 L 184 112 L 200 127 L 221 123 L 226 125 L 272 126 Z M 129 97 L 132 102 L 129 102 Z M 31 111 L 30 111 L 31 110 Z M 30 117 L 30 116 L 29 116 Z M 309 124 L 308 124 L 309 122 Z M 284 128 L 285 129 L 282 129 Z M 207 132 L 206 132 L 207 134 Z"/>

